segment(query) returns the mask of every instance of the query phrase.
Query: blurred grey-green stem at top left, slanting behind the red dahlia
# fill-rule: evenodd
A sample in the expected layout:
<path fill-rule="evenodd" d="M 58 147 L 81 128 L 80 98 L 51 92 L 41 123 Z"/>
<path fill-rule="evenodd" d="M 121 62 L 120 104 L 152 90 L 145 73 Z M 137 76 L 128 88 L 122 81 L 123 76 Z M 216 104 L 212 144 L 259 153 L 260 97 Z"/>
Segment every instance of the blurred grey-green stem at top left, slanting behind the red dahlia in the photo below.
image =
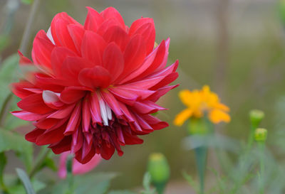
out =
<path fill-rule="evenodd" d="M 33 26 L 33 21 L 35 19 L 36 11 L 38 9 L 40 1 L 41 0 L 34 0 L 33 1 L 33 5 L 31 6 L 30 14 L 28 15 L 28 21 L 26 23 L 26 28 L 24 30 L 23 38 L 22 38 L 21 44 L 20 44 L 21 53 L 23 53 L 24 55 L 26 55 L 26 50 L 28 47 L 28 41 L 29 41 L 29 38 L 31 36 L 31 28 Z"/>

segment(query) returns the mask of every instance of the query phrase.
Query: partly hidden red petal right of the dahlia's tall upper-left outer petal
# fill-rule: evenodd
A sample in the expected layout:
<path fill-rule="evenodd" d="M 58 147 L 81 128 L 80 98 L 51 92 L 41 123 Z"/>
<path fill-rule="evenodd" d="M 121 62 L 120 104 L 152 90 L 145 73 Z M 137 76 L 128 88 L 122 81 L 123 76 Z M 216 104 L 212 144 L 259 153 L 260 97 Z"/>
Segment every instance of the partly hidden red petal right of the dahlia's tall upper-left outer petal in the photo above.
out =
<path fill-rule="evenodd" d="M 69 34 L 71 35 L 73 43 L 76 46 L 76 50 L 78 51 L 78 53 L 81 53 L 81 43 L 85 33 L 84 28 L 76 24 L 69 24 L 67 28 Z"/>

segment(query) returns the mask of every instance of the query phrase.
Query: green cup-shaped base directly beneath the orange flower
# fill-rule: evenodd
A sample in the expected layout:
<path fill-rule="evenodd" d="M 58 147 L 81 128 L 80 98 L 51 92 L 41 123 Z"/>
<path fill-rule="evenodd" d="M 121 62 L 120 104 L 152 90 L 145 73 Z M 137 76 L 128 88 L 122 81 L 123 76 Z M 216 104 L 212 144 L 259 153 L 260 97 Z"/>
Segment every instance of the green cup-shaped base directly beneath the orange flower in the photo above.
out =
<path fill-rule="evenodd" d="M 207 124 L 205 123 L 204 119 L 195 119 L 191 118 L 190 122 L 188 123 L 187 133 L 190 135 L 195 134 L 208 134 L 209 130 L 207 128 Z"/>

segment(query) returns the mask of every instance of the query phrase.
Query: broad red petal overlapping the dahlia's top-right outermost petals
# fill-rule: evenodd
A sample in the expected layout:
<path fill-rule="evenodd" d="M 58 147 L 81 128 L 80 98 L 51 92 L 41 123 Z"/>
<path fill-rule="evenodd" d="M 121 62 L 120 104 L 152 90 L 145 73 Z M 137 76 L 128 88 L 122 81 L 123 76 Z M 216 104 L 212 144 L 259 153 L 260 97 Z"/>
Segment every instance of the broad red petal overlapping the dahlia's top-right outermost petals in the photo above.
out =
<path fill-rule="evenodd" d="M 145 41 L 142 36 L 135 35 L 130 39 L 124 52 L 125 68 L 123 75 L 129 75 L 133 70 L 140 67 L 143 60 L 145 60 Z M 120 76 L 121 78 L 124 78 Z"/>

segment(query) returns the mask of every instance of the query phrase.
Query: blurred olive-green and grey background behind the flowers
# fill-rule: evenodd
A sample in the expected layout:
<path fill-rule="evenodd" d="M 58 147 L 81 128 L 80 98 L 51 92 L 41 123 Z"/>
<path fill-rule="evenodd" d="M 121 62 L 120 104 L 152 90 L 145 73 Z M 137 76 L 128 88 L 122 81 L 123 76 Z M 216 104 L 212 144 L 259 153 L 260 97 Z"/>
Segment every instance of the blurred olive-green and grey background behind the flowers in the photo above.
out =
<path fill-rule="evenodd" d="M 4 21 L 8 16 L 8 1 L 12 2 L 0 0 L 1 31 L 4 31 Z M 141 16 L 154 18 L 156 42 L 171 38 L 169 64 L 180 60 L 180 77 L 176 81 L 180 87 L 162 97 L 159 103 L 169 110 L 158 117 L 169 122 L 170 126 L 143 136 L 144 144 L 126 146 L 123 157 L 115 154 L 110 161 L 103 161 L 95 169 L 121 174 L 113 181 L 113 188 L 141 185 L 147 157 L 156 151 L 164 153 L 170 163 L 172 184 L 184 184 L 182 171 L 195 174 L 194 153 L 181 146 L 186 135 L 185 126 L 178 128 L 172 124 L 175 115 L 184 108 L 177 98 L 177 92 L 182 89 L 193 90 L 209 85 L 231 108 L 232 122 L 220 124 L 217 133 L 246 140 L 248 112 L 254 108 L 265 112 L 263 126 L 269 129 L 269 133 L 274 130 L 274 109 L 285 95 L 285 31 L 277 1 L 42 0 L 32 24 L 33 36 L 28 42 L 27 56 L 31 57 L 33 37 L 41 29 L 48 30 L 55 14 L 65 11 L 83 23 L 87 14 L 85 6 L 97 11 L 114 6 L 128 26 Z M 2 59 L 19 49 L 30 9 L 31 6 L 19 4 L 9 32 L 9 46 L 1 53 Z M 279 145 L 272 139 L 269 134 L 269 142 L 272 142 L 269 146 L 278 154 Z M 13 154 L 10 157 L 14 157 Z M 281 161 L 285 159 L 278 157 Z M 214 157 L 210 156 L 209 161 L 210 166 L 216 166 Z M 16 159 L 15 163 L 9 163 L 9 171 L 14 171 L 15 166 L 19 166 Z"/>

